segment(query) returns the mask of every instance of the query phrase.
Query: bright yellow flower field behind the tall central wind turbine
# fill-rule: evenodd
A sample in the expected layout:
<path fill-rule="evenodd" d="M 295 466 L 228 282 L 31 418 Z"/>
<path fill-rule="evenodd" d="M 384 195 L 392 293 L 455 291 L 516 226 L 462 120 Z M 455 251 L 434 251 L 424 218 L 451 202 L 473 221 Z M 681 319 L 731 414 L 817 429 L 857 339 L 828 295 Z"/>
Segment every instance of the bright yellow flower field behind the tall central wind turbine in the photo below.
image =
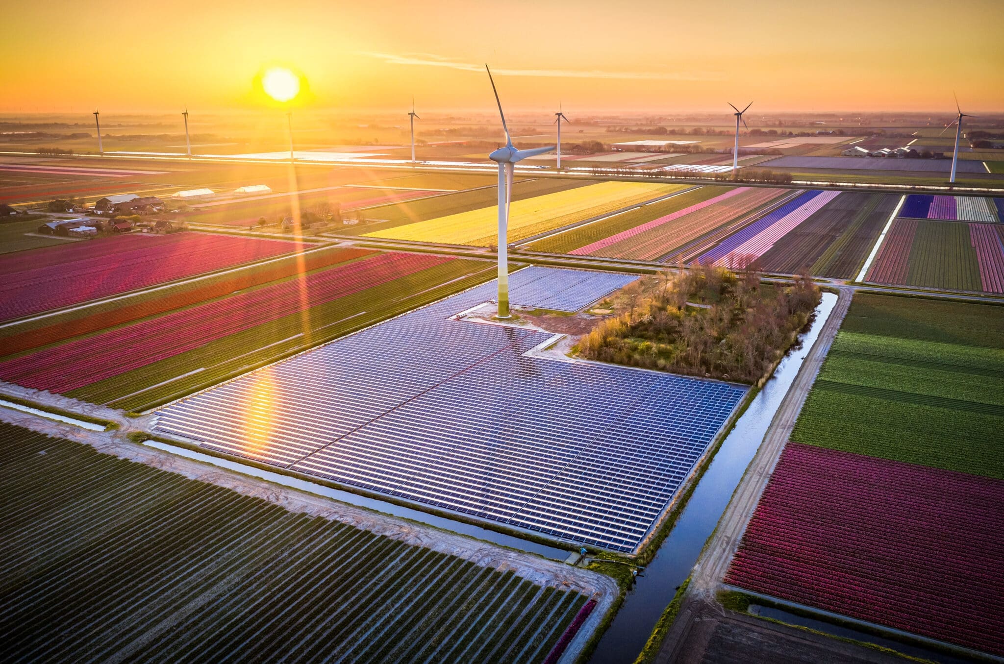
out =
<path fill-rule="evenodd" d="M 683 189 L 683 185 L 613 182 L 513 201 L 509 211 L 509 242 L 645 203 Z M 365 237 L 488 247 L 497 242 L 497 230 L 498 208 L 492 206 L 374 231 L 366 233 Z"/>

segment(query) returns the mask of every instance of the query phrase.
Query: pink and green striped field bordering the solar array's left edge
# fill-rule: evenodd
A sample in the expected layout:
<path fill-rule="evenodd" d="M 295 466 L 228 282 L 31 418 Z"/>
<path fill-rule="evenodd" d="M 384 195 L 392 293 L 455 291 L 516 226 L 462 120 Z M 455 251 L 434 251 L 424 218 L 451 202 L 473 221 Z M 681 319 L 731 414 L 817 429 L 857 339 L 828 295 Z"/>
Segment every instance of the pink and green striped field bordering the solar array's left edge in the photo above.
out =
<path fill-rule="evenodd" d="M 0 378 L 146 408 L 493 276 L 482 262 L 349 251 L 354 260 L 10 357 Z"/>

